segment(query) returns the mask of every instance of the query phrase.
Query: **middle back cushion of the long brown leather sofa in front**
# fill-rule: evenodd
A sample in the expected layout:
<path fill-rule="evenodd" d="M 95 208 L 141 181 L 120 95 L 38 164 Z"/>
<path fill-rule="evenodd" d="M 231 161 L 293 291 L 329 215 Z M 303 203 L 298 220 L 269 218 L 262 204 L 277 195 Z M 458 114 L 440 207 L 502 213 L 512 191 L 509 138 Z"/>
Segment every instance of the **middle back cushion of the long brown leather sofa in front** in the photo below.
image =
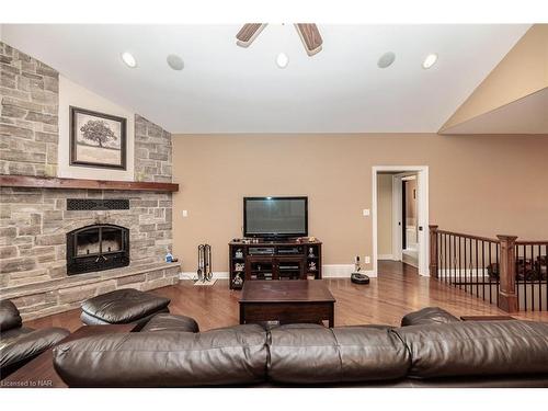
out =
<path fill-rule="evenodd" d="M 340 384 L 402 378 L 409 352 L 389 329 L 289 328 L 271 331 L 269 376 L 282 384 Z"/>

